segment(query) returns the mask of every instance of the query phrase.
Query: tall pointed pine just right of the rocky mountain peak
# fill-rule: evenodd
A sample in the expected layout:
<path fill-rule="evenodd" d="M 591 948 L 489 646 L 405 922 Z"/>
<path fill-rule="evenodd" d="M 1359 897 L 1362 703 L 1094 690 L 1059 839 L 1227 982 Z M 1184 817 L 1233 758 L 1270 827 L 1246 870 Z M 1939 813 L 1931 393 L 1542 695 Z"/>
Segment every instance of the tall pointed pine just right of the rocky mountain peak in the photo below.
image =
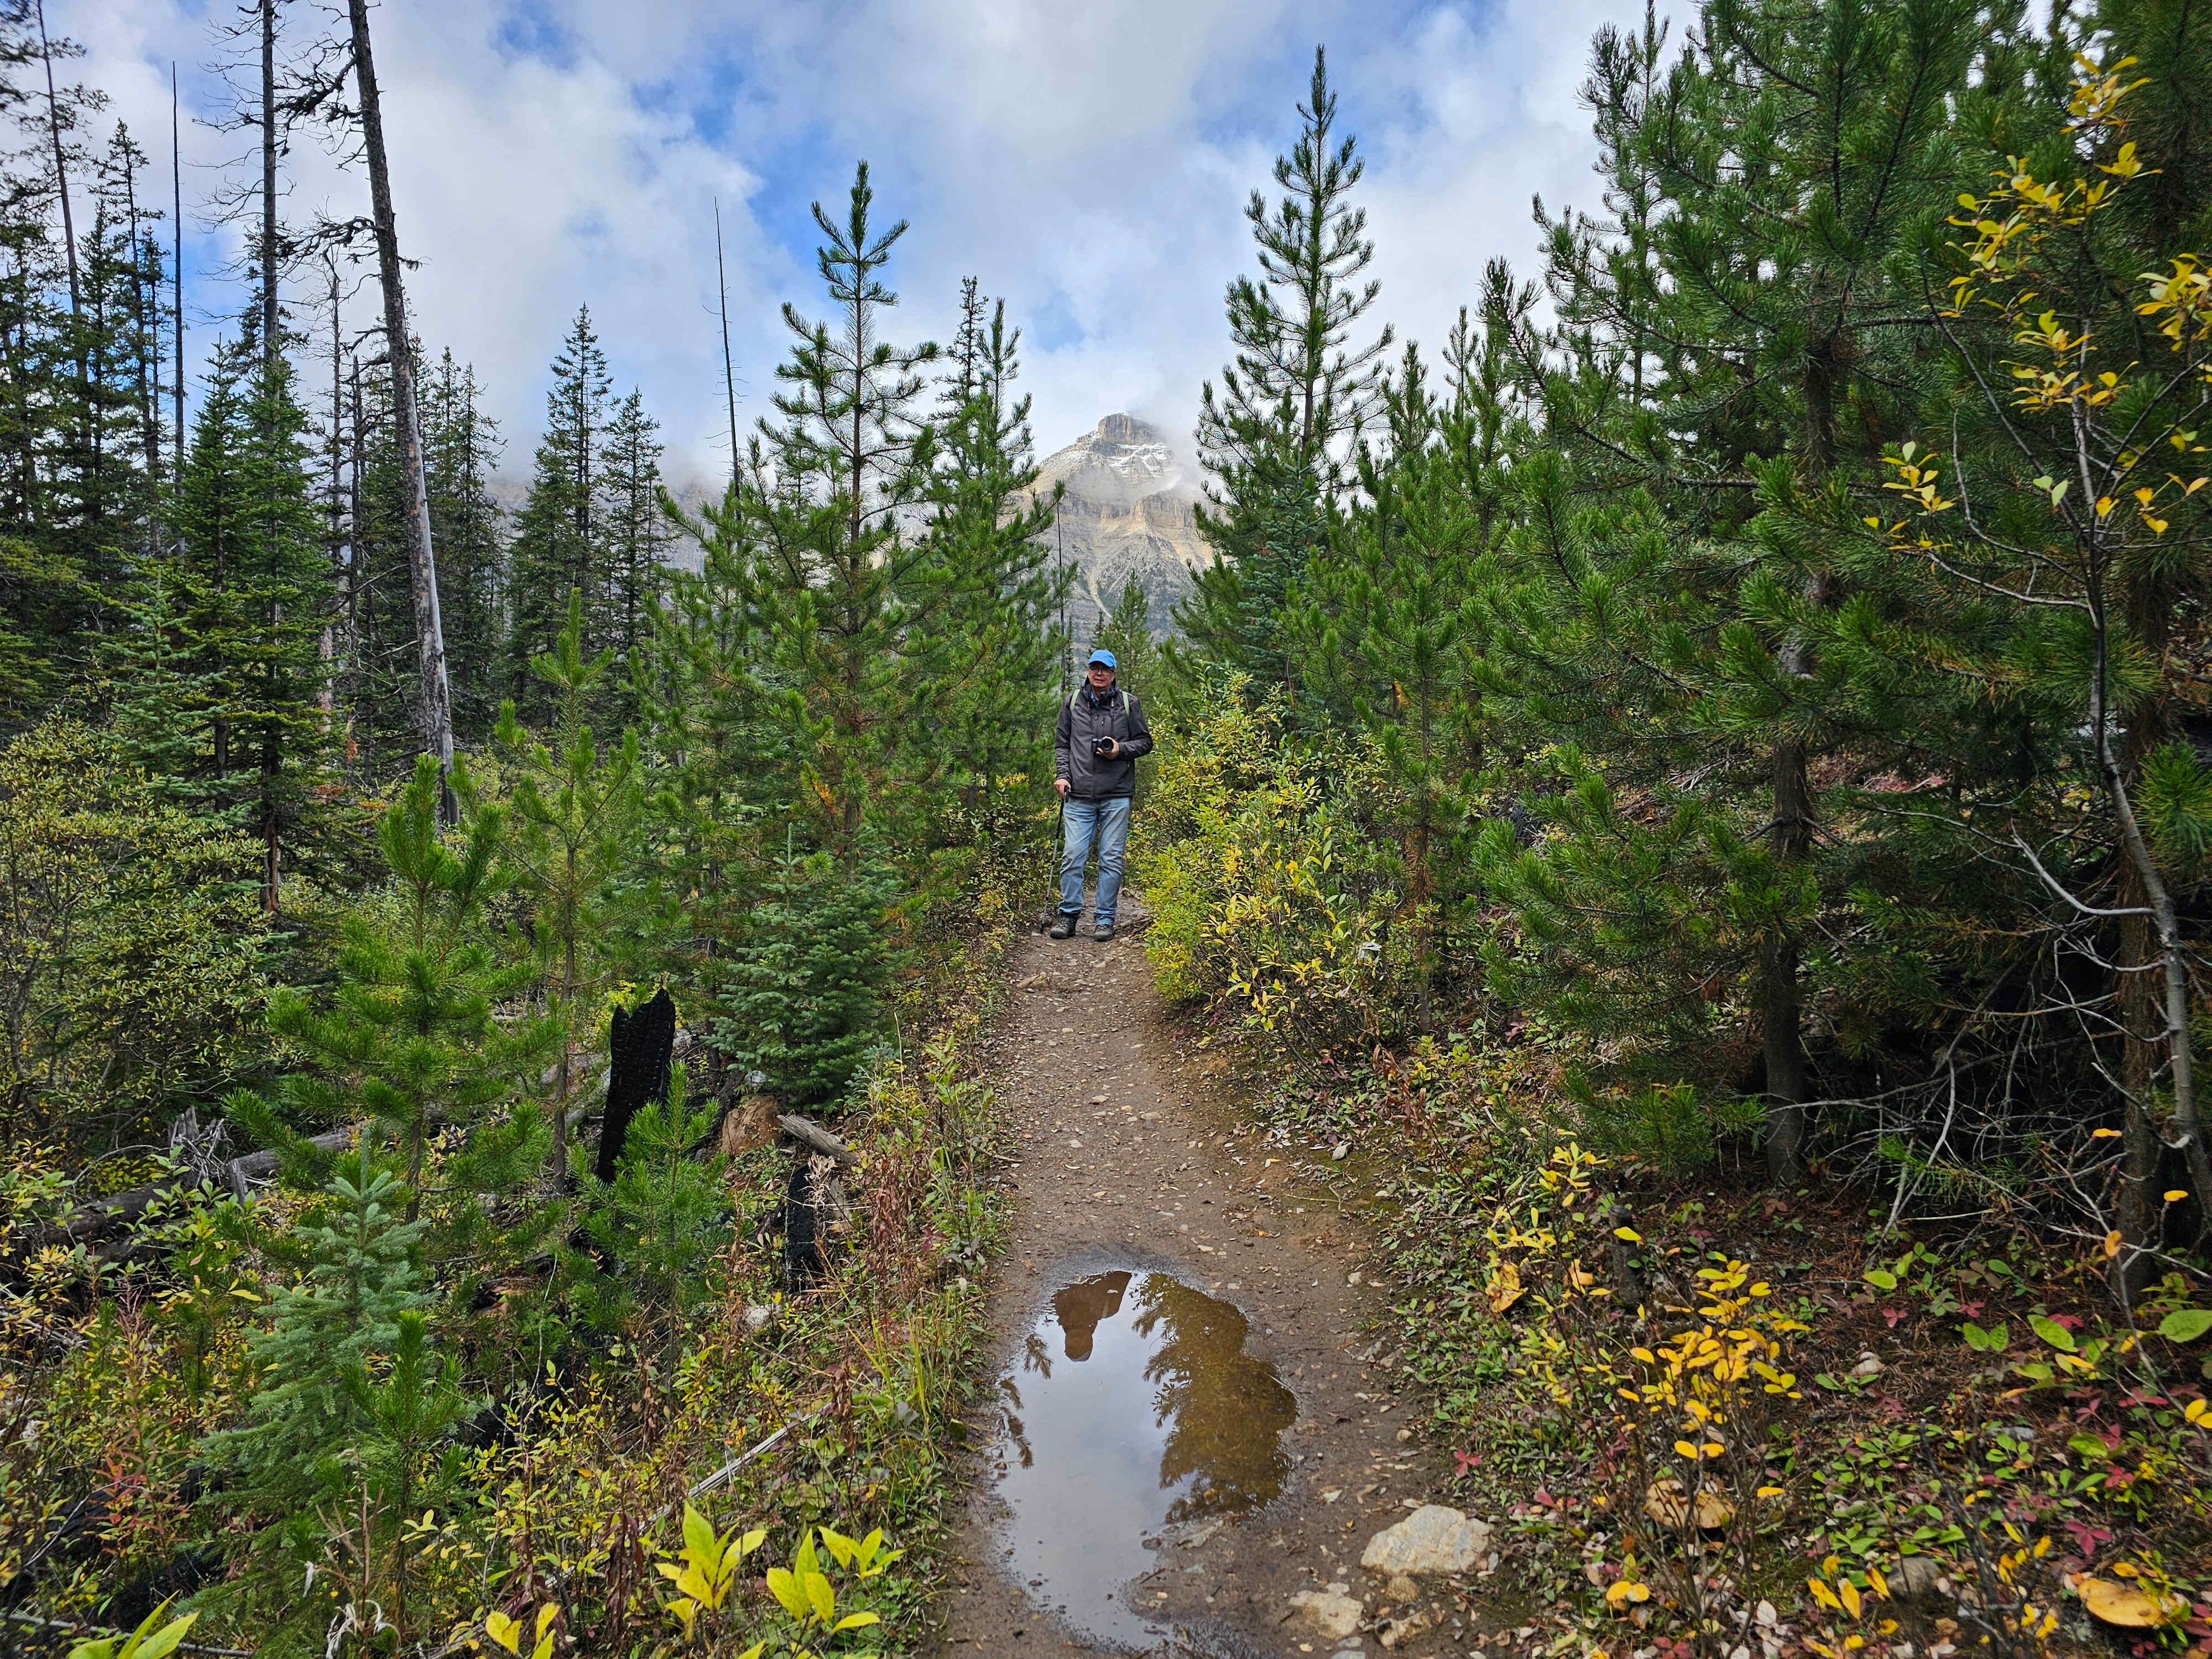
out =
<path fill-rule="evenodd" d="M 1358 142 L 1334 139 L 1336 93 L 1316 49 L 1305 124 L 1274 161 L 1283 190 L 1270 212 L 1254 190 L 1245 206 L 1259 246 L 1259 279 L 1228 290 L 1237 361 L 1199 398 L 1199 453 L 1212 480 L 1199 529 L 1217 551 L 1179 622 L 1201 650 L 1296 697 L 1296 664 L 1279 633 L 1285 597 L 1327 540 L 1345 445 L 1374 416 L 1391 330 L 1352 345 L 1380 283 L 1367 210 L 1352 206 L 1365 173 Z"/>

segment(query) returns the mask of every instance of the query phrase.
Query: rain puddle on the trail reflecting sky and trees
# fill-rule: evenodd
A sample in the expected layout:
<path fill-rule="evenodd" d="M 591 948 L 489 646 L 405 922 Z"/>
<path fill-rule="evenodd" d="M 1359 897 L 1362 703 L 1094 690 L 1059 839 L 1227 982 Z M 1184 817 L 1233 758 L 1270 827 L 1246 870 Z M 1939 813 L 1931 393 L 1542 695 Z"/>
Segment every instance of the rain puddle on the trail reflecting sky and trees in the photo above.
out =
<path fill-rule="evenodd" d="M 1006 1571 L 1077 1630 L 1146 1646 L 1128 1579 L 1161 1526 L 1265 1504 L 1298 1413 L 1243 1352 L 1245 1316 L 1166 1274 L 1110 1272 L 1053 1294 L 1000 1378 Z"/>

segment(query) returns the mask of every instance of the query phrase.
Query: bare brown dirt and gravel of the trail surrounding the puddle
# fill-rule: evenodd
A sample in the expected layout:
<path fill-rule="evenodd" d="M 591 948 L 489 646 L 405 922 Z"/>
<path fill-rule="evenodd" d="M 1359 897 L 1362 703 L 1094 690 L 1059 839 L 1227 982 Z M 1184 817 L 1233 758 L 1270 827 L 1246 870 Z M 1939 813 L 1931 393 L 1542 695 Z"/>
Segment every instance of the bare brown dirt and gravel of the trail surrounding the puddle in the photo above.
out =
<path fill-rule="evenodd" d="M 1239 1126 L 1186 1053 L 1152 989 L 1141 942 L 1024 938 L 1009 958 L 1011 1006 L 987 1048 L 987 1075 L 1015 1126 L 1011 1245 L 991 1285 L 993 1378 L 1015 1363 L 1051 1294 L 1113 1267 L 1168 1272 L 1234 1303 L 1248 1352 L 1272 1360 L 1296 1394 L 1283 1493 L 1223 1526 L 1183 1528 L 1157 1566 L 1117 1588 L 1121 1606 L 1157 1613 L 1175 1635 L 1157 1652 L 1378 1655 L 1387 1619 L 1400 1655 L 1478 1652 L 1473 1577 L 1429 1579 L 1402 1601 L 1358 1566 L 1367 1540 L 1444 1493 L 1449 1458 L 1391 1389 L 1396 1347 L 1385 1294 L 1365 1283 L 1365 1237 L 1287 1148 Z M 1000 1568 L 1006 1559 L 991 1449 L 1000 1396 L 971 1409 L 978 1447 L 942 1595 L 936 1655 L 1113 1652 L 1055 1624 L 1051 1608 Z M 1172 1533 L 1175 1528 L 1170 1528 Z M 1292 1597 L 1338 1586 L 1363 1604 L 1352 1635 L 1323 1635 Z"/>

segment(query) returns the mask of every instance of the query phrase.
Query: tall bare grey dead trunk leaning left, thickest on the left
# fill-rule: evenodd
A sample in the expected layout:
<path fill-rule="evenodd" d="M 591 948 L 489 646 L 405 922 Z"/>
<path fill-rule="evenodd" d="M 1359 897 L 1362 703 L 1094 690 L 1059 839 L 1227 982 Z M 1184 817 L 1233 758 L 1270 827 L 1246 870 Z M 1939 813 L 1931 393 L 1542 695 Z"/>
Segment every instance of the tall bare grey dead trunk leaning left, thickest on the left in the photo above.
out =
<path fill-rule="evenodd" d="M 392 418 L 398 422 L 400 471 L 407 476 L 407 575 L 414 586 L 420 664 L 422 743 L 438 757 L 438 776 L 453 772 L 453 690 L 445 670 L 445 619 L 438 613 L 438 555 L 429 540 L 429 480 L 422 473 L 422 420 L 416 414 L 414 361 L 407 341 L 407 290 L 400 239 L 392 217 L 392 168 L 385 161 L 385 117 L 369 55 L 369 0 L 347 0 L 354 24 L 354 86 L 361 93 L 361 148 L 369 161 L 369 212 L 376 221 L 376 276 L 385 290 L 385 343 L 392 354 Z M 458 812 L 451 787 L 440 816 Z"/>

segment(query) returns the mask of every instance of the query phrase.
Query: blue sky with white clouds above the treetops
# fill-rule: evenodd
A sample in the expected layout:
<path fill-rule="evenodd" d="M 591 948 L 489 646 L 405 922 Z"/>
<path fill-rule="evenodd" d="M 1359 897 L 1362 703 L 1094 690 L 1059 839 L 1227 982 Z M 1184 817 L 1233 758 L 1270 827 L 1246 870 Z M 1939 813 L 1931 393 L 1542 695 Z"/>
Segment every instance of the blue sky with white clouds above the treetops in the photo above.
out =
<path fill-rule="evenodd" d="M 237 232 L 195 215 L 243 148 L 192 122 L 221 115 L 230 15 L 49 0 L 113 95 L 104 119 L 164 161 L 181 66 L 199 319 L 241 301 Z M 507 471 L 529 467 L 544 365 L 588 303 L 681 476 L 726 445 L 714 197 L 741 416 L 765 409 L 779 305 L 818 310 L 807 208 L 841 212 L 865 157 L 883 219 L 914 221 L 891 272 L 907 338 L 942 338 L 975 274 L 1024 325 L 1044 449 L 1117 409 L 1188 440 L 1228 352 L 1223 283 L 1250 265 L 1243 199 L 1296 133 L 1316 42 L 1369 159 L 1380 314 L 1433 343 L 1489 257 L 1531 261 L 1531 195 L 1595 201 L 1575 88 L 1593 29 L 1637 18 L 1624 0 L 394 0 L 374 27 L 416 314 L 431 349 L 476 363 Z M 314 0 L 285 20 L 296 40 L 327 27 Z M 294 221 L 365 204 L 312 137 L 288 177 Z"/>

